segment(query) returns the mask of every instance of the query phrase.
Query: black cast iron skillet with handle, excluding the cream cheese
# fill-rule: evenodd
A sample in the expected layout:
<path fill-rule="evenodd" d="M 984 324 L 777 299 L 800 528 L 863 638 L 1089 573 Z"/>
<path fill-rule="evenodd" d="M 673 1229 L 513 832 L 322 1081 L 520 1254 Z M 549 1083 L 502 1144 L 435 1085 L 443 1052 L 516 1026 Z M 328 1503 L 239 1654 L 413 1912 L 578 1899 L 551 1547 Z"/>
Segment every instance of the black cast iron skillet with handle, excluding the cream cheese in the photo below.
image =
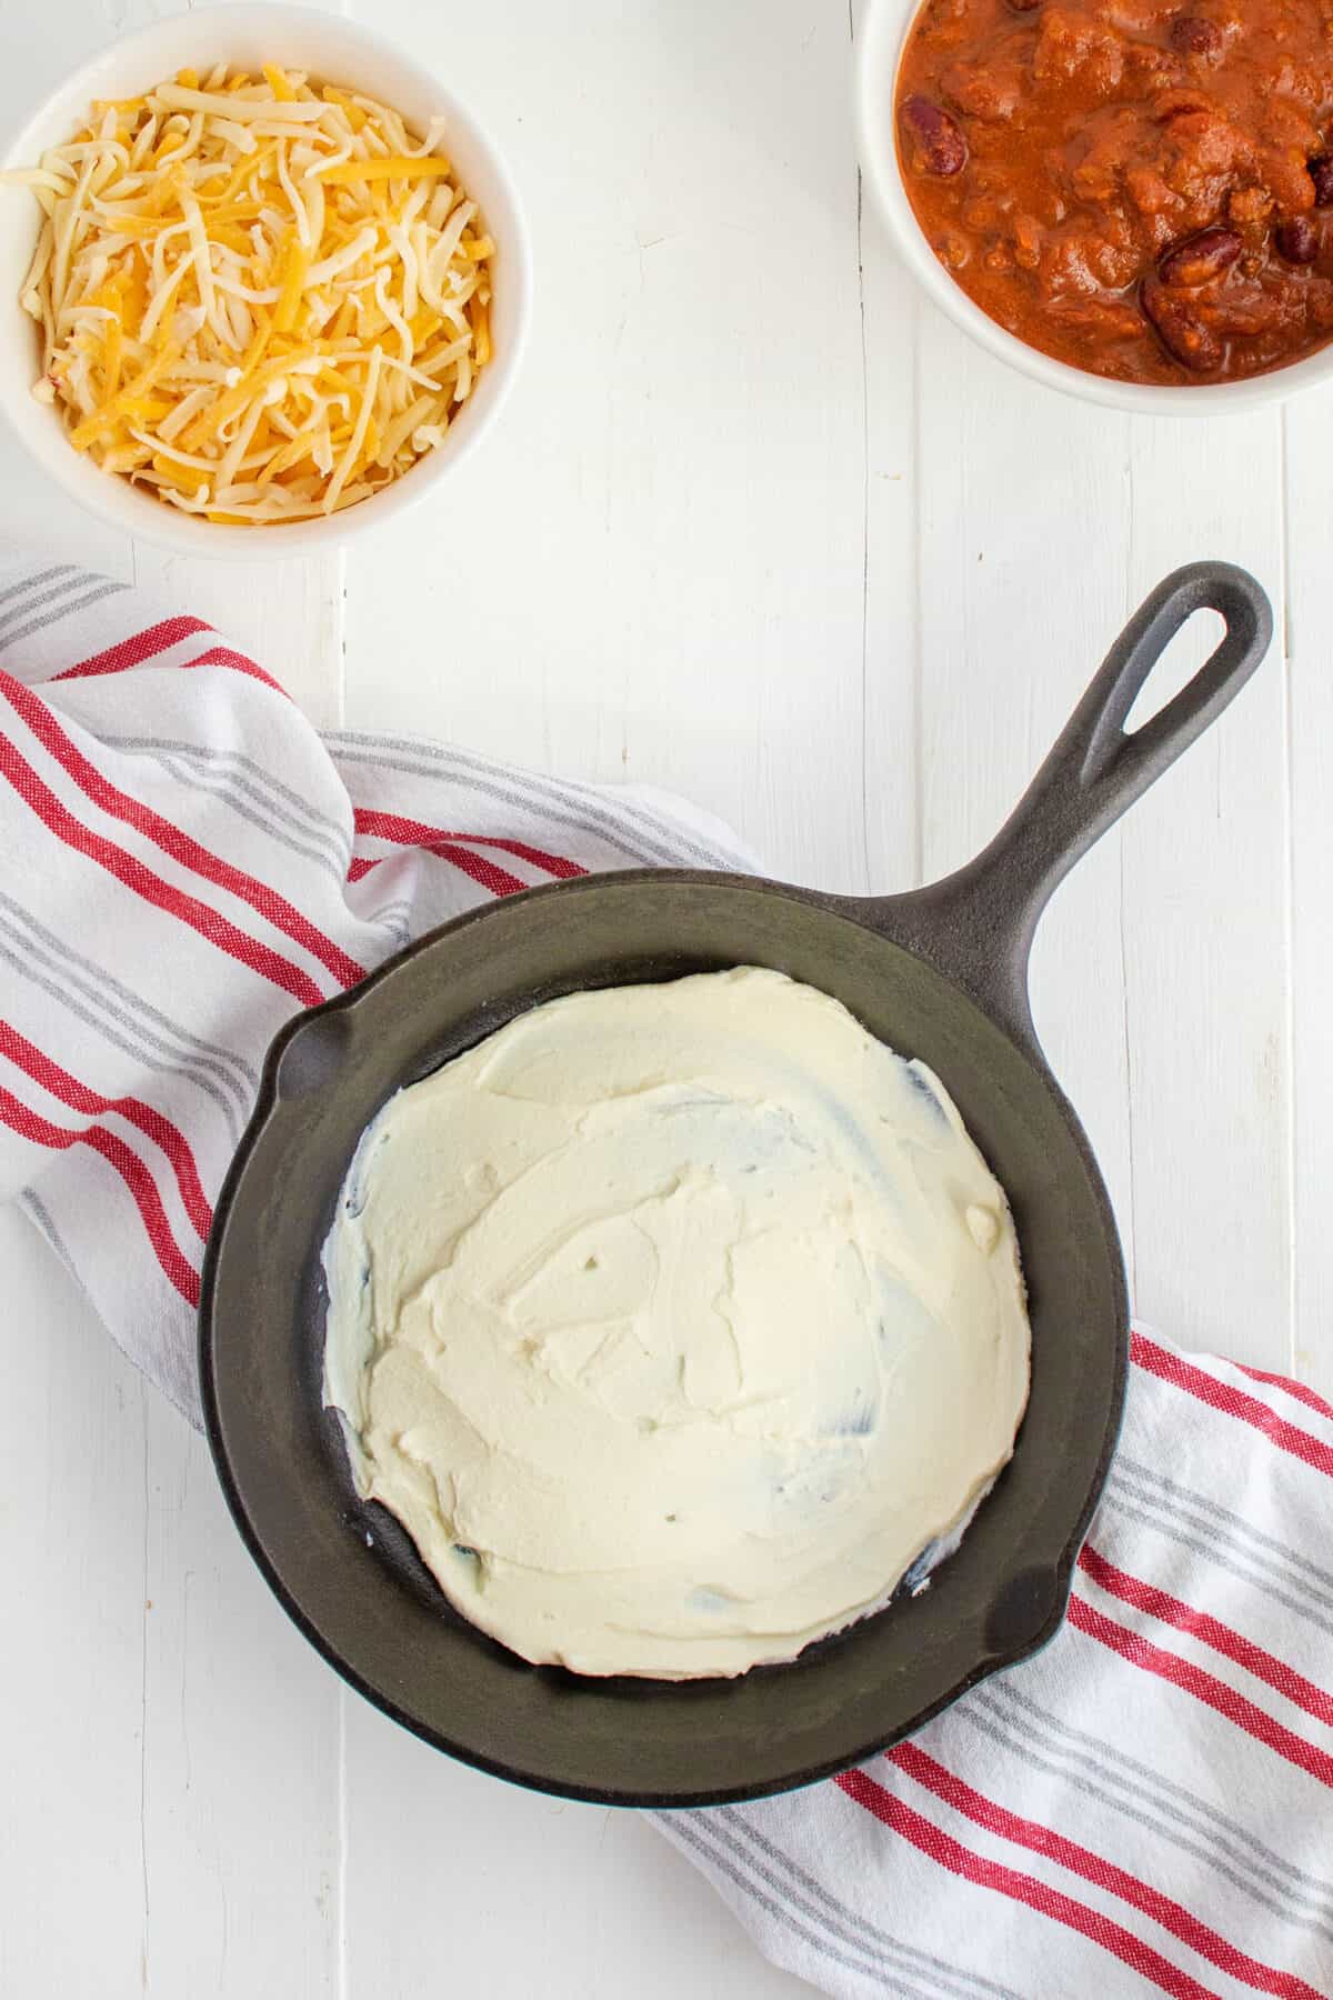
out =
<path fill-rule="evenodd" d="M 1125 734 L 1165 644 L 1209 606 L 1225 638 Z M 1101 1176 L 1033 1034 L 1029 942 L 1065 870 L 1221 714 L 1269 634 L 1243 570 L 1201 562 L 1167 578 L 1003 832 L 933 888 L 875 900 L 727 874 L 588 876 L 446 924 L 284 1028 L 208 1244 L 204 1412 L 250 1552 L 354 1688 L 504 1778 L 687 1806 L 841 1770 L 1051 1638 L 1115 1446 L 1127 1298 Z M 320 1408 L 320 1246 L 362 1128 L 402 1084 L 556 994 L 735 964 L 821 986 L 947 1084 L 1013 1202 L 1031 1288 L 1027 1416 L 929 1588 L 793 1666 L 685 1684 L 532 1668 L 458 1618 L 396 1522 L 356 1500 Z"/>

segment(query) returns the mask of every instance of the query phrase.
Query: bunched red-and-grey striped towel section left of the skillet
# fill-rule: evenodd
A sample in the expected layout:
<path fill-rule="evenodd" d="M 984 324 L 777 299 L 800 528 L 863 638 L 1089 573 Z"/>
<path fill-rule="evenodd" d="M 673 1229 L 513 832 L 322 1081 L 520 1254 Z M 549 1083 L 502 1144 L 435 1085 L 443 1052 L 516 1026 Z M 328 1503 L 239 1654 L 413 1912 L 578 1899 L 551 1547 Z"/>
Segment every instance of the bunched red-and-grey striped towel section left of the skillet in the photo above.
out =
<path fill-rule="evenodd" d="M 320 738 L 206 626 L 70 562 L 0 566 L 0 1196 L 198 1426 L 212 1198 L 298 1008 L 586 870 L 745 868 L 630 786 Z"/>

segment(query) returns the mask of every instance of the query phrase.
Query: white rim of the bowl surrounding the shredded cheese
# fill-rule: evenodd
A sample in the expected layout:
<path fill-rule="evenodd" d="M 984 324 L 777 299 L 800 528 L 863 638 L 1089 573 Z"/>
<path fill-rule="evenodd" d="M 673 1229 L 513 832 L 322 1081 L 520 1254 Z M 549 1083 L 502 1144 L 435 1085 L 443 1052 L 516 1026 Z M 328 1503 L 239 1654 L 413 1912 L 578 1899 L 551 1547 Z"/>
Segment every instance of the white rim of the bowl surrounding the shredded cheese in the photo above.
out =
<path fill-rule="evenodd" d="M 30 166 L 42 144 L 50 144 L 50 140 L 42 138 L 44 128 L 64 116 L 70 100 L 78 102 L 80 98 L 90 100 L 96 96 L 98 74 L 108 62 L 114 60 L 120 66 L 126 60 L 142 56 L 148 68 L 154 50 L 164 42 L 178 40 L 182 34 L 194 36 L 202 44 L 210 40 L 226 44 L 228 38 L 250 30 L 310 34 L 312 52 L 318 50 L 320 38 L 328 40 L 336 36 L 342 44 L 356 44 L 368 58 L 384 66 L 414 70 L 424 90 L 438 102 L 440 116 L 448 126 L 466 134 L 468 144 L 484 156 L 486 170 L 498 184 L 504 206 L 508 206 L 502 256 L 504 284 L 512 300 L 512 332 L 506 346 L 492 356 L 486 368 L 486 404 L 480 418 L 476 422 L 464 420 L 458 426 L 456 442 L 448 446 L 448 456 L 428 452 L 410 472 L 392 480 L 382 492 L 372 494 L 370 500 L 328 518 L 316 516 L 312 520 L 264 528 L 202 522 L 190 514 L 178 516 L 174 508 L 136 492 L 114 474 L 98 474 L 96 482 L 80 478 L 78 468 L 84 460 L 72 452 L 64 436 L 64 426 L 56 430 L 58 418 L 52 422 L 52 448 L 38 446 L 32 430 L 18 418 L 12 388 L 0 392 L 0 420 L 6 424 L 8 434 L 22 446 L 28 462 L 52 478 L 84 514 L 118 528 L 134 540 L 168 548 L 182 556 L 212 556 L 222 560 L 268 556 L 282 560 L 334 554 L 348 542 L 382 530 L 408 508 L 422 506 L 438 484 L 476 452 L 480 440 L 492 430 L 510 398 L 528 346 L 532 326 L 532 240 L 524 202 L 504 152 L 470 106 L 440 80 L 436 70 L 400 42 L 380 34 L 378 28 L 368 28 L 348 14 L 332 14 L 318 6 L 292 4 L 292 0 L 222 0 L 218 6 L 188 14 L 166 14 L 146 22 L 142 28 L 112 36 L 92 50 L 78 68 L 66 72 L 32 106 L 20 126 L 10 126 L 0 134 L 0 168 Z M 312 64 L 312 74 L 320 74 L 318 62 Z M 6 310 L 4 302 L 0 302 L 0 310 Z M 12 310 L 22 308 L 14 302 Z M 468 410 L 464 416 L 472 418 L 474 412 Z M 102 486 L 106 486 L 106 492 L 102 492 Z"/>

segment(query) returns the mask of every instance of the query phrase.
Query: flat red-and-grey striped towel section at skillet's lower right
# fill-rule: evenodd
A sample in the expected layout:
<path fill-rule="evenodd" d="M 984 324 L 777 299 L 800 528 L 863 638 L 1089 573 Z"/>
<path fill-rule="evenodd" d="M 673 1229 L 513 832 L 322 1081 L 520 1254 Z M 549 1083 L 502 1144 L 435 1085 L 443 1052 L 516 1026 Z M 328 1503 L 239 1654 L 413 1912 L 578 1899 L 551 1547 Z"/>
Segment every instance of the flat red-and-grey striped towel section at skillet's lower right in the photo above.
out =
<path fill-rule="evenodd" d="M 1333 1408 L 1137 1330 L 1057 1638 L 859 1770 L 658 1820 L 829 1994 L 1327 2000 L 1331 1688 Z"/>

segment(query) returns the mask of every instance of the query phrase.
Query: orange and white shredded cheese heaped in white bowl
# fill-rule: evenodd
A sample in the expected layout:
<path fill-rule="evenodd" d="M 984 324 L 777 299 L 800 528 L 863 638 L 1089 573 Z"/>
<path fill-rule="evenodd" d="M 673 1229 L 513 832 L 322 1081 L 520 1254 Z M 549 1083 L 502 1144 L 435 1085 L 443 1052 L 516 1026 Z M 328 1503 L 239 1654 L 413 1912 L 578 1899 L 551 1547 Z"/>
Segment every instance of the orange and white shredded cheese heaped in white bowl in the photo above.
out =
<path fill-rule="evenodd" d="M 390 106 L 264 64 L 180 70 L 0 174 L 70 442 L 208 520 L 310 520 L 442 442 L 492 358 L 476 204 Z"/>

